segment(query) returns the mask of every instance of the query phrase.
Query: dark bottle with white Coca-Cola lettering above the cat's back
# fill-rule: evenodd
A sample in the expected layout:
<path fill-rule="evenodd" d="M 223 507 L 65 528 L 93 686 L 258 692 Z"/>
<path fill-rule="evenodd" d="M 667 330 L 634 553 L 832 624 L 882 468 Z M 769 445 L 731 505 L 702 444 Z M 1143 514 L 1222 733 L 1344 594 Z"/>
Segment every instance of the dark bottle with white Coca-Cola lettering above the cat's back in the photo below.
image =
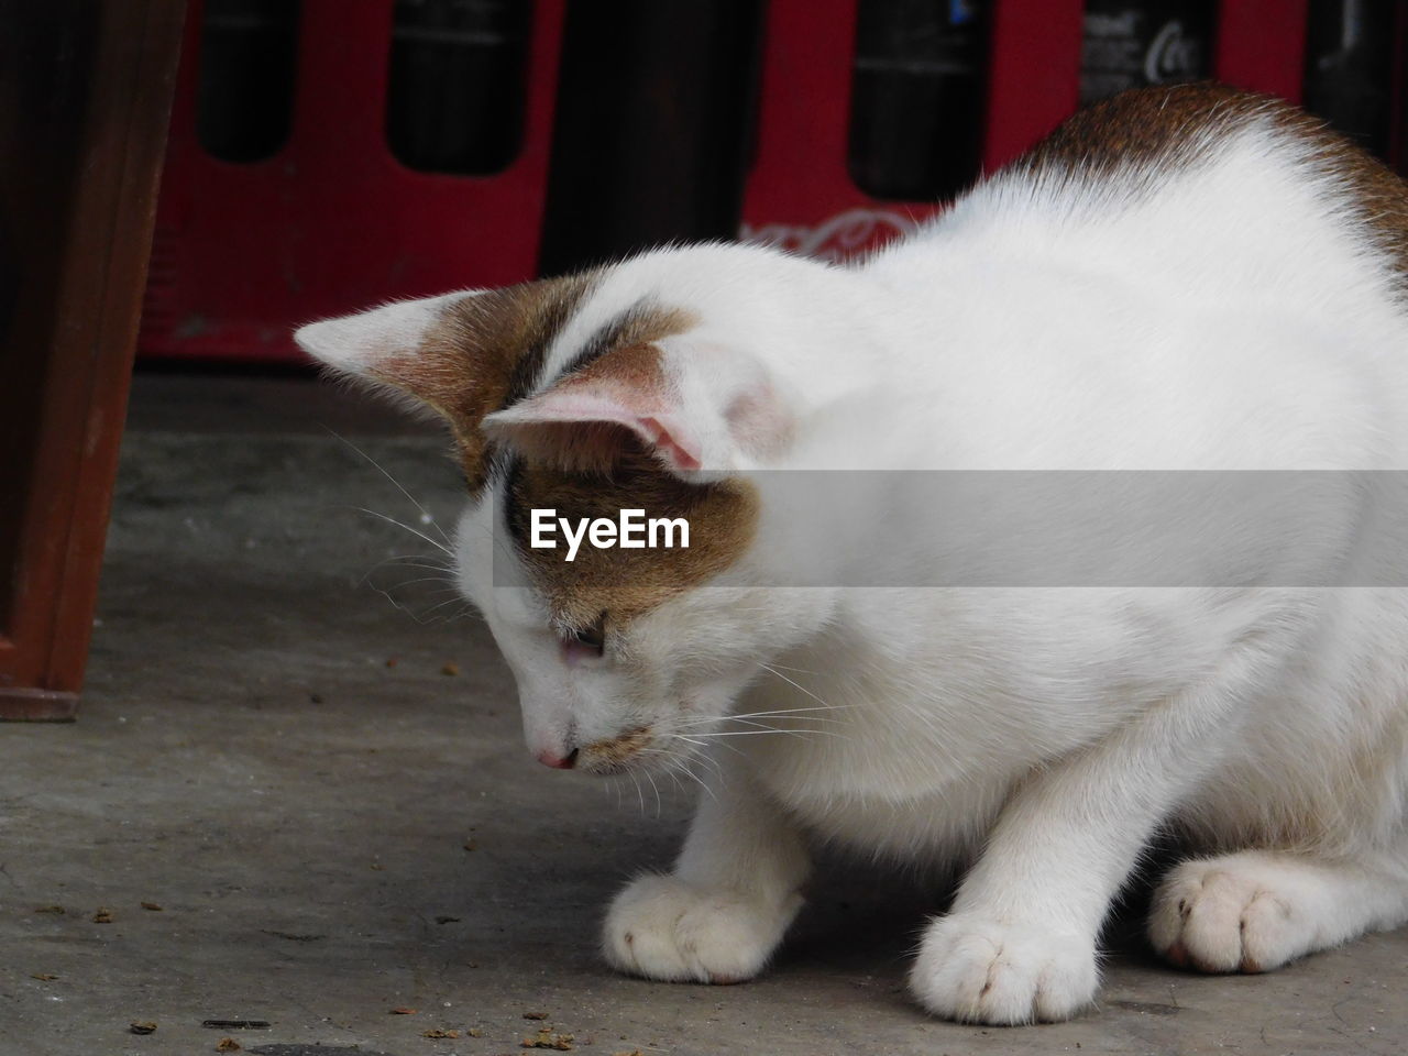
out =
<path fill-rule="evenodd" d="M 1211 0 L 1086 0 L 1080 104 L 1211 76 L 1215 8 Z"/>

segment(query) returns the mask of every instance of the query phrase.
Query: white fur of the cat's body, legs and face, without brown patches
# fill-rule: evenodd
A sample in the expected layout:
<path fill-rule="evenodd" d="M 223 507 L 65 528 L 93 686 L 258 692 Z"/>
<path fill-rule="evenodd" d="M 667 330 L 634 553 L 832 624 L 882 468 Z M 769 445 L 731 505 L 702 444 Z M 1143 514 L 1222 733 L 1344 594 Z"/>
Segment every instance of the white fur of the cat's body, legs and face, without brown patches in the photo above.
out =
<path fill-rule="evenodd" d="M 1408 469 L 1408 317 L 1350 211 L 1255 121 L 1148 193 L 1000 175 L 853 269 L 742 246 L 618 265 L 539 387 L 653 298 L 701 320 L 663 342 L 681 391 L 708 403 L 697 352 L 725 348 L 791 428 L 766 459 L 725 438 L 714 469 Z M 1408 591 L 769 589 L 796 511 L 767 498 L 718 584 L 573 665 L 532 591 L 493 586 L 496 504 L 460 525 L 534 750 L 649 727 L 641 766 L 697 760 L 708 781 L 673 874 L 608 914 L 617 966 L 758 972 L 808 835 L 973 860 L 912 990 L 980 1022 L 1091 1001 L 1101 922 L 1166 825 L 1224 852 L 1164 881 L 1150 936 L 1174 959 L 1269 969 L 1408 918 Z M 1333 569 L 1354 501 L 1232 549 Z M 834 582 L 907 559 L 866 546 L 866 518 L 894 510 L 835 513 Z M 955 559 L 983 558 L 964 541 Z M 714 738 L 734 731 L 759 735 Z"/>

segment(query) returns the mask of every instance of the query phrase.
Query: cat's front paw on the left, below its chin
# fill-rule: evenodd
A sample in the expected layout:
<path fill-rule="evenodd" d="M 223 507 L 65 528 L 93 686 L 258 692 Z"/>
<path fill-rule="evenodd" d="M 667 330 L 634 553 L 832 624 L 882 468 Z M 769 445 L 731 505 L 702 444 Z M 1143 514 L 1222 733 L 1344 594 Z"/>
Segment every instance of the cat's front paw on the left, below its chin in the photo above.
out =
<path fill-rule="evenodd" d="M 607 960 L 646 979 L 741 983 L 767 963 L 800 907 L 800 895 L 773 907 L 742 891 L 642 876 L 607 912 Z"/>

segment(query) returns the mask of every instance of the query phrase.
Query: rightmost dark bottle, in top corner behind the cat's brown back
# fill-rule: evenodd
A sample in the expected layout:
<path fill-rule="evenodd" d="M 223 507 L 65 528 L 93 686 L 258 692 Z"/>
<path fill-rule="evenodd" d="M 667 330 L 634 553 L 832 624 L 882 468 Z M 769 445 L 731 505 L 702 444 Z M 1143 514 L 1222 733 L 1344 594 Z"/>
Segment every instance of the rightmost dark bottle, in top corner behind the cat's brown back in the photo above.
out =
<path fill-rule="evenodd" d="M 1394 0 L 1311 0 L 1305 108 L 1380 158 L 1393 139 Z"/>

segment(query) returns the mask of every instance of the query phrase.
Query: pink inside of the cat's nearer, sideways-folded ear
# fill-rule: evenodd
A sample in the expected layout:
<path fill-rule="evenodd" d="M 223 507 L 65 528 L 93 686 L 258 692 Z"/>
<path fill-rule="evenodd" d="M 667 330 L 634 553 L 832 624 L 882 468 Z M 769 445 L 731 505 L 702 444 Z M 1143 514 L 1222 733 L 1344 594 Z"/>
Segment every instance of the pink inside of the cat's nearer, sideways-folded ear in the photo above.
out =
<path fill-rule="evenodd" d="M 659 401 L 643 401 L 632 396 L 635 394 L 622 394 L 603 386 L 569 386 L 493 414 L 486 425 L 501 429 L 524 455 L 565 466 L 610 460 L 604 456 L 603 445 L 610 445 L 611 434 L 600 427 L 618 425 L 643 441 L 666 465 L 674 469 L 698 469 L 700 446 L 689 431 L 672 421 Z M 605 452 L 610 453 L 612 452 Z"/>

